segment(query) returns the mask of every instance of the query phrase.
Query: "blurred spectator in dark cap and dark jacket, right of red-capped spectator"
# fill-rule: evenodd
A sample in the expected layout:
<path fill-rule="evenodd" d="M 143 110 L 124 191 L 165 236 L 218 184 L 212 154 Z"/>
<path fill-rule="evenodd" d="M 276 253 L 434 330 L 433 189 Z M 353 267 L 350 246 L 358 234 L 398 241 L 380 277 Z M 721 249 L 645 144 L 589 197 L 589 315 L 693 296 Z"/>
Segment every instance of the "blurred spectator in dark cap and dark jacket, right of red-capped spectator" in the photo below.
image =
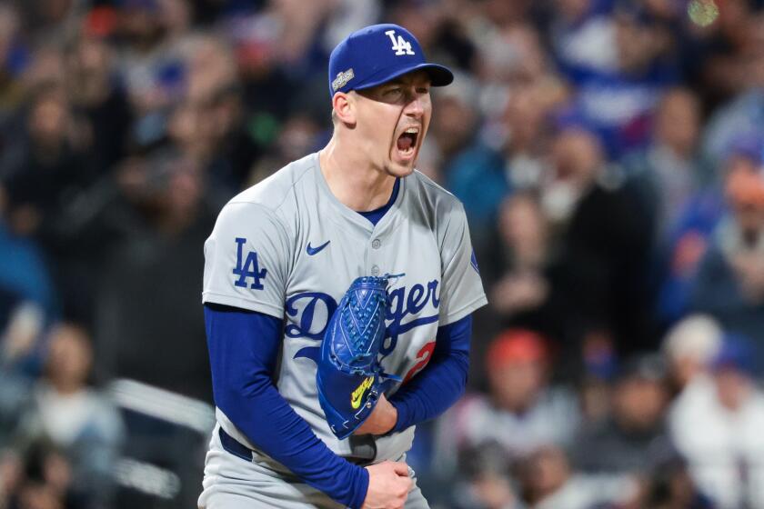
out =
<path fill-rule="evenodd" d="M 657 355 L 630 358 L 613 388 L 611 414 L 582 427 L 576 437 L 574 464 L 589 474 L 638 474 L 646 469 L 651 447 L 666 439 L 664 381 L 664 366 Z"/>

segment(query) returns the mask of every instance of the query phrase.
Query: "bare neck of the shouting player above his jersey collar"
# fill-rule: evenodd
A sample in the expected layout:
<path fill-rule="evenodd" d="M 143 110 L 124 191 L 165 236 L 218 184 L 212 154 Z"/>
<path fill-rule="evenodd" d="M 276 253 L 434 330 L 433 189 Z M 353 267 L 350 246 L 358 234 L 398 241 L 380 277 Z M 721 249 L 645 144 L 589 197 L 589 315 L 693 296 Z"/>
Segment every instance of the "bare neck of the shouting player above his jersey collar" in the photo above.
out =
<path fill-rule="evenodd" d="M 394 176 L 369 165 L 363 158 L 338 150 L 334 138 L 318 154 L 318 163 L 332 195 L 357 212 L 387 204 L 396 183 Z"/>

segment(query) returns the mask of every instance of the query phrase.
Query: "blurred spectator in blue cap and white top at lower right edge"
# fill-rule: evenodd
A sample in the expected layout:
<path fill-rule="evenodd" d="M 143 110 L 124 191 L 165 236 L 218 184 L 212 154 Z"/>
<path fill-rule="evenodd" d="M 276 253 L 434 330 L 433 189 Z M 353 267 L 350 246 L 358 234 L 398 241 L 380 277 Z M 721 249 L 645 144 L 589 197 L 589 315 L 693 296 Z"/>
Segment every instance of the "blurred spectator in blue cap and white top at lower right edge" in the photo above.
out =
<path fill-rule="evenodd" d="M 693 381 L 668 413 L 692 479 L 722 509 L 764 506 L 764 394 L 752 350 L 746 338 L 726 334 L 711 375 Z"/>

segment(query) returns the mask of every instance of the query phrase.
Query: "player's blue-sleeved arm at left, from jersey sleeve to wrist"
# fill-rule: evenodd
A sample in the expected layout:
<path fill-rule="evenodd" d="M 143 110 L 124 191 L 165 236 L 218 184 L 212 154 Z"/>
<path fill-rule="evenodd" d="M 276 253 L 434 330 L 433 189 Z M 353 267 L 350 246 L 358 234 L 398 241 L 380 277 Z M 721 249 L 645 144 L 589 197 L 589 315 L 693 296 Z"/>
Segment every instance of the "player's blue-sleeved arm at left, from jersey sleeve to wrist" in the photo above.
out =
<path fill-rule="evenodd" d="M 282 323 L 266 314 L 205 306 L 215 403 L 258 449 L 341 504 L 360 507 L 368 474 L 334 454 L 271 380 Z"/>

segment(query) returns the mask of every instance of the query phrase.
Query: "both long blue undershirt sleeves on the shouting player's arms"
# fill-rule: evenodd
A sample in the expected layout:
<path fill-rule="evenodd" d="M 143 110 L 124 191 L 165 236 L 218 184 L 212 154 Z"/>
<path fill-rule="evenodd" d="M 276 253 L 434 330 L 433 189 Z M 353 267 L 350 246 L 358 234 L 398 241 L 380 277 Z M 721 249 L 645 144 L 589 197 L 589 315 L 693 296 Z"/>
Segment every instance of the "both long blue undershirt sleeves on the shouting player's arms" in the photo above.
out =
<path fill-rule="evenodd" d="M 273 374 L 283 321 L 268 314 L 205 304 L 215 404 L 252 444 L 340 504 L 360 507 L 368 472 L 332 452 L 278 394 Z M 390 398 L 392 432 L 443 413 L 467 384 L 471 315 L 438 327 L 430 362 Z"/>

